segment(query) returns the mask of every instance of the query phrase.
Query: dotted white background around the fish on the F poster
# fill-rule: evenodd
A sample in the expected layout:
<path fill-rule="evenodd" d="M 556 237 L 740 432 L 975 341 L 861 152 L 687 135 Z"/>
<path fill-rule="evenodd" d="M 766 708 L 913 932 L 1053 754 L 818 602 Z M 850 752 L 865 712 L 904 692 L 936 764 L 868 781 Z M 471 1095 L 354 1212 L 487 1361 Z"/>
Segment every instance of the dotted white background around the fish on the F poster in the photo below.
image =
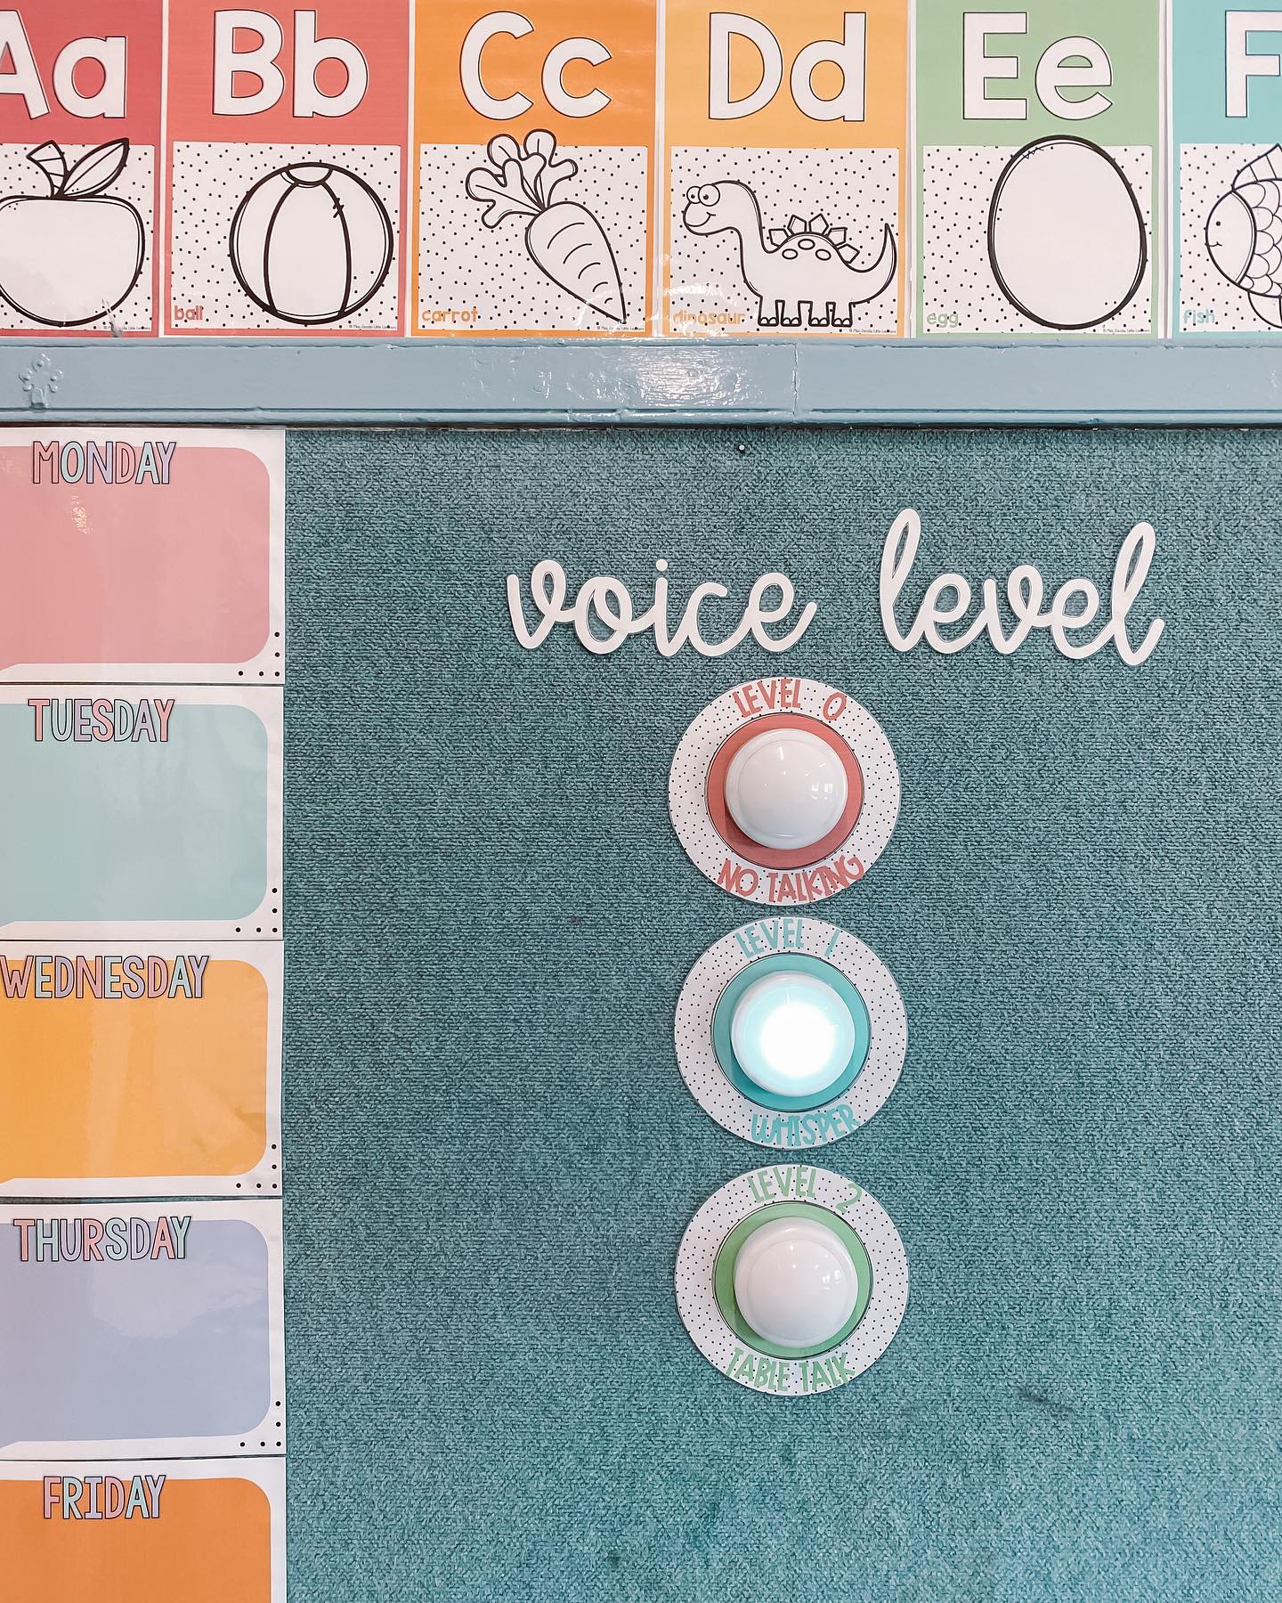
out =
<path fill-rule="evenodd" d="M 1176 333 L 1277 335 L 1252 309 L 1247 292 L 1215 266 L 1207 250 L 1207 218 L 1216 200 L 1229 194 L 1237 175 L 1268 144 L 1179 146 L 1179 303 Z"/>

